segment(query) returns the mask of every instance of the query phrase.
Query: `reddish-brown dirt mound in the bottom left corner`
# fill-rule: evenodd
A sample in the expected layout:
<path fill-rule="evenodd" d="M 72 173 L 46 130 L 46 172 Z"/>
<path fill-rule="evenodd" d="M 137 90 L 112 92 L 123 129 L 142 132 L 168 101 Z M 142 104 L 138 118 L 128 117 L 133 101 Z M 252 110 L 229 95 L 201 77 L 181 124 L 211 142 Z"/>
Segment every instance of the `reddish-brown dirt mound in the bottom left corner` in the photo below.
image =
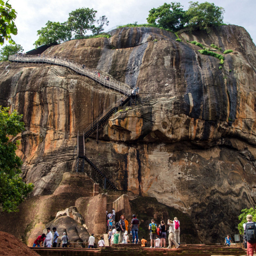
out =
<path fill-rule="evenodd" d="M 39 256 L 36 252 L 22 243 L 15 236 L 0 231 L 0 255 L 1 256 Z"/>

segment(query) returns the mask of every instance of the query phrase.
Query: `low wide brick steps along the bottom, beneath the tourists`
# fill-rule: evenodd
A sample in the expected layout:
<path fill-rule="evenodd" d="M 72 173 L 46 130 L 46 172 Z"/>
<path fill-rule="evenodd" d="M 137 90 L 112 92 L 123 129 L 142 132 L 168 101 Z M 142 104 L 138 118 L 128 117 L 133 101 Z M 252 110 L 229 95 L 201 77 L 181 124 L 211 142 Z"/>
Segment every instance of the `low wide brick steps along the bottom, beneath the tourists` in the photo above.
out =
<path fill-rule="evenodd" d="M 140 245 L 113 245 L 104 248 L 36 248 L 33 250 L 41 256 L 245 256 L 246 249 L 241 247 L 223 247 L 221 245 L 181 245 L 178 249 L 150 248 Z"/>

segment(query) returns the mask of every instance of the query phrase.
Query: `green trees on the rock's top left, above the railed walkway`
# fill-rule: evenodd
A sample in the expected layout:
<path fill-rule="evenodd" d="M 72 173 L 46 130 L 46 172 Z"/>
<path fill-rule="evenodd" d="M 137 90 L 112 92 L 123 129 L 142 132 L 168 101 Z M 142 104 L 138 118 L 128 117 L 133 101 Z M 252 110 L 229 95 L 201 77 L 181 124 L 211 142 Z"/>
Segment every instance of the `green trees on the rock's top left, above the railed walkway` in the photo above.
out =
<path fill-rule="evenodd" d="M 66 22 L 51 22 L 46 23 L 46 27 L 37 30 L 39 38 L 34 45 L 50 45 L 54 43 L 62 43 L 74 38 L 84 38 L 87 31 L 91 30 L 93 35 L 102 32 L 103 26 L 108 26 L 106 16 L 96 19 L 97 11 L 89 8 L 79 8 L 69 13 Z"/>

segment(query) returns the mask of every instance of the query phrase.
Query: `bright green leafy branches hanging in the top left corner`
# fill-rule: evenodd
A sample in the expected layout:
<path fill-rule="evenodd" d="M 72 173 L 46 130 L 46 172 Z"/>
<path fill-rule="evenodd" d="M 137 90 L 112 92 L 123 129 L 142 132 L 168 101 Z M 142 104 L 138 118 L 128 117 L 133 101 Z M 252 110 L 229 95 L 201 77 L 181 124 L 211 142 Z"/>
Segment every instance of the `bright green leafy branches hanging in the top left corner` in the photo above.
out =
<path fill-rule="evenodd" d="M 0 0 L 0 45 L 4 44 L 4 40 L 9 40 L 9 43 L 15 42 L 11 39 L 11 34 L 17 35 L 17 28 L 14 20 L 16 19 L 16 11 L 11 7 L 8 1 L 4 4 Z"/>

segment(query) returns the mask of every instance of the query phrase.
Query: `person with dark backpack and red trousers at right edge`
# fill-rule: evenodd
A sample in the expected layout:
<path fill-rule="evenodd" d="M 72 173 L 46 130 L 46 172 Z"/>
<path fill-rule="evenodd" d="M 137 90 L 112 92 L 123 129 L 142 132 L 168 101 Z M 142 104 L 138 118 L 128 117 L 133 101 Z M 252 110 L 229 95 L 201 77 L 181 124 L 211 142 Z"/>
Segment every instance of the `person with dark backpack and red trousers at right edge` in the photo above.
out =
<path fill-rule="evenodd" d="M 245 239 L 247 242 L 247 255 L 253 256 L 254 250 L 256 252 L 256 225 L 252 221 L 252 215 L 248 214 L 246 216 L 247 223 L 243 224 L 243 228 L 245 230 Z"/>

